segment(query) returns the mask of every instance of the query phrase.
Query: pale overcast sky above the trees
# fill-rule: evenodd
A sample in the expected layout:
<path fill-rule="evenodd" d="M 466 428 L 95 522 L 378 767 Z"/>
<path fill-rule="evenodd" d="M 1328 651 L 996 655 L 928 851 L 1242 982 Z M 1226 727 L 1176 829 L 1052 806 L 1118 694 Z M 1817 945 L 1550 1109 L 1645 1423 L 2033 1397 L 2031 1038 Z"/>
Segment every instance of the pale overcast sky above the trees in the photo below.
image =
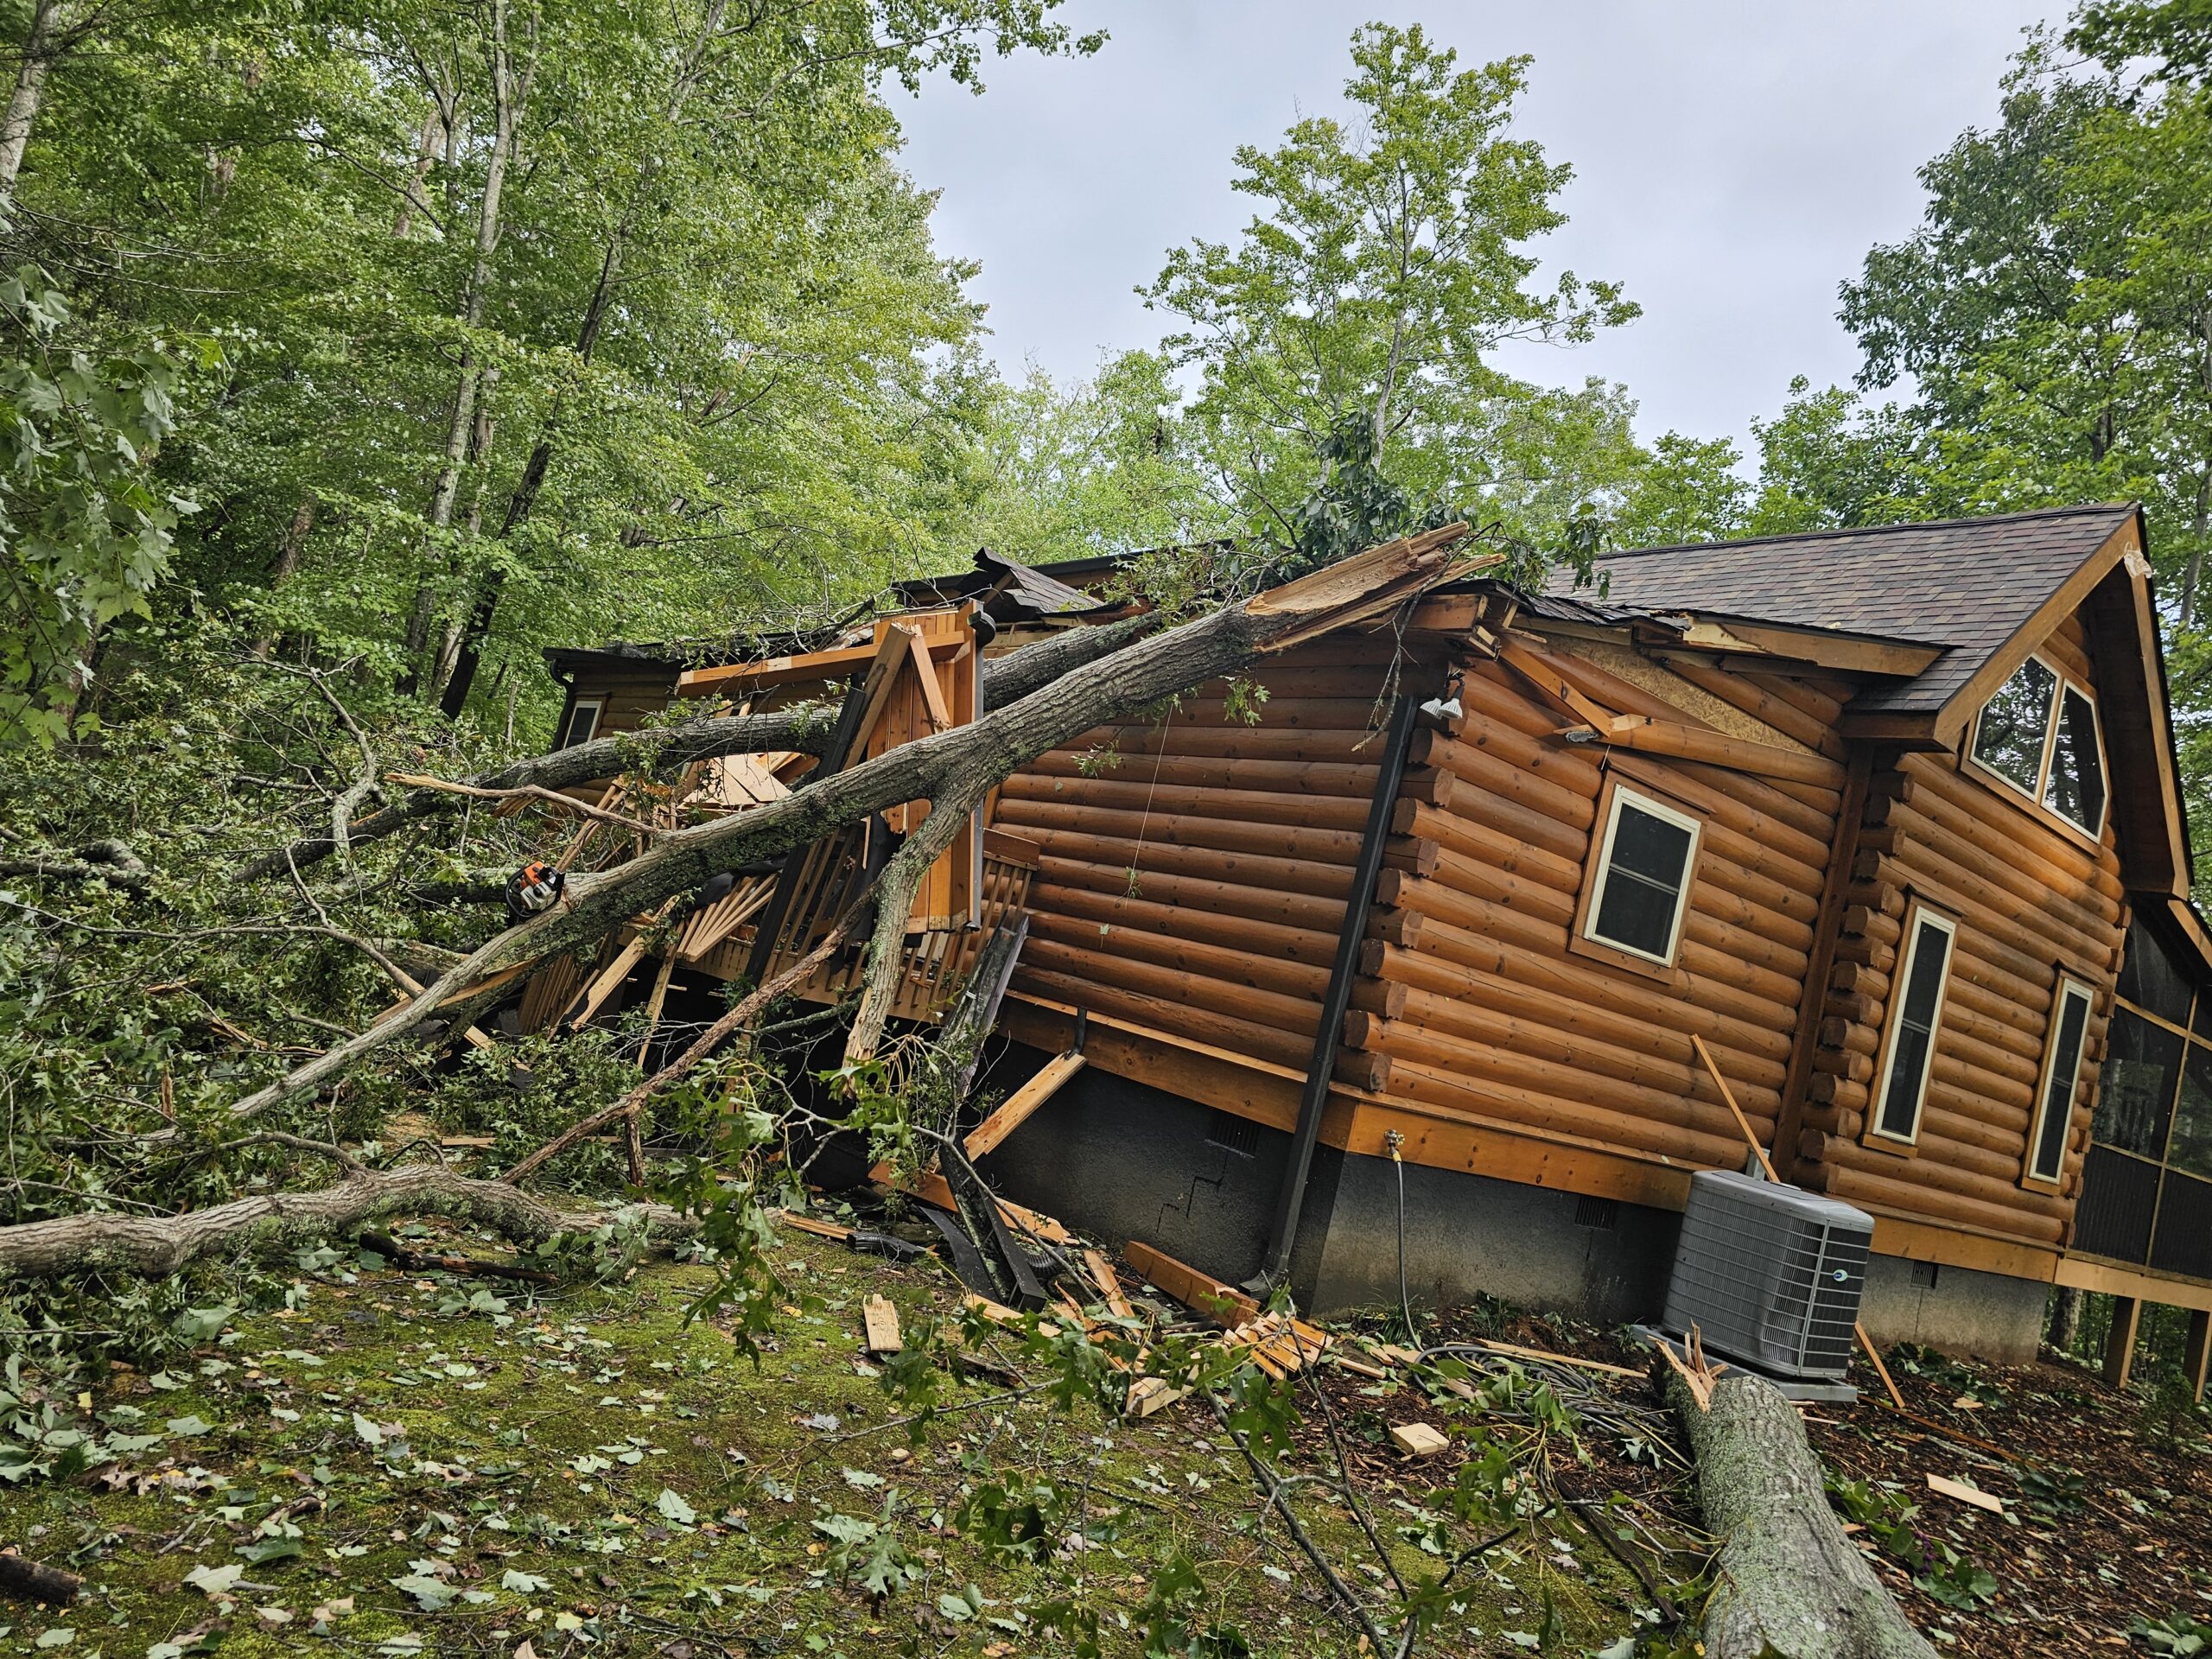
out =
<path fill-rule="evenodd" d="M 1352 29 L 1422 22 L 1462 62 L 1535 58 L 1520 133 L 1575 179 L 1548 270 L 1610 276 L 1641 321 L 1584 347 L 1520 347 L 1513 372 L 1599 374 L 1641 403 L 1639 431 L 1734 436 L 1792 374 L 1858 367 L 1836 283 L 1920 217 L 1913 179 L 1997 113 L 1997 77 L 2039 0 L 1068 0 L 1108 29 L 1095 58 L 993 64 L 989 91 L 898 100 L 905 164 L 945 192 L 945 252 L 982 261 L 991 345 L 1084 376 L 1102 349 L 1152 345 L 1130 292 L 1168 248 L 1252 217 L 1230 153 L 1298 113 L 1343 111 Z"/>

